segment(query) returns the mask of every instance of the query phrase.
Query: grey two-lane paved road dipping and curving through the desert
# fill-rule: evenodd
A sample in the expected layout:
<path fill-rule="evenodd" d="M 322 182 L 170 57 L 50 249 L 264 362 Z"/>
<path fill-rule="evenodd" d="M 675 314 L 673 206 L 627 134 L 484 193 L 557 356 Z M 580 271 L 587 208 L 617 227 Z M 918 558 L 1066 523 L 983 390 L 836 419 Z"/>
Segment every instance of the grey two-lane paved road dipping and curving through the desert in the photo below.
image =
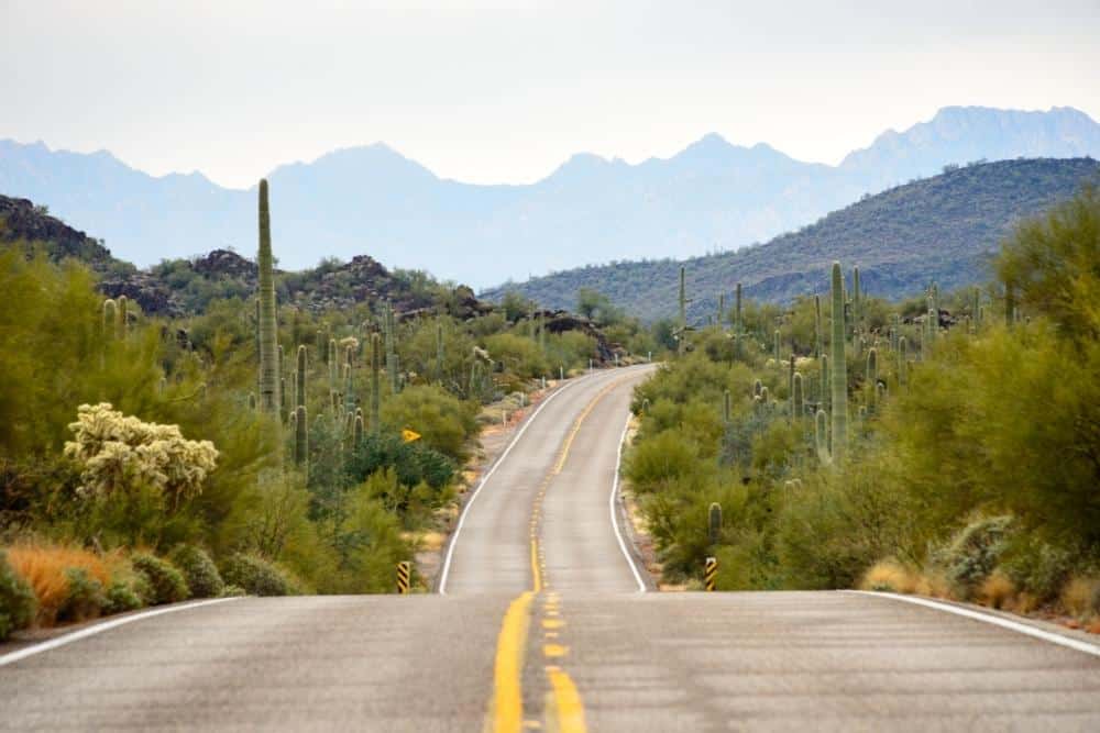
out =
<path fill-rule="evenodd" d="M 644 371 L 543 402 L 444 595 L 142 619 L 0 666 L 0 729 L 1100 730 L 1100 657 L 1015 631 L 843 592 L 638 592 L 609 499 Z"/>

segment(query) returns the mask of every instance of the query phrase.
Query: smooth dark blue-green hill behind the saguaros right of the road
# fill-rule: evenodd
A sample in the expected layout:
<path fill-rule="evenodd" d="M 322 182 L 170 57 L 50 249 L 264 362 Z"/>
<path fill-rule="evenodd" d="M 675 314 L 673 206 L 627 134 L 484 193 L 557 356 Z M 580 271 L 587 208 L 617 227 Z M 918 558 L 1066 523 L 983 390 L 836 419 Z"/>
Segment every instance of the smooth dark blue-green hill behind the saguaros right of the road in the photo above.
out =
<path fill-rule="evenodd" d="M 790 301 L 827 289 L 834 259 L 859 265 L 869 292 L 900 298 L 935 279 L 943 289 L 988 279 L 987 262 L 1020 220 L 1100 184 L 1091 158 L 1002 160 L 954 167 L 835 211 L 798 232 L 735 253 L 686 260 L 614 263 L 556 273 L 482 293 L 491 300 L 515 290 L 544 307 L 576 303 L 581 288 L 647 319 L 674 313 L 678 270 L 688 268 L 690 313 L 705 319 L 718 293 L 740 281 L 749 297 Z"/>

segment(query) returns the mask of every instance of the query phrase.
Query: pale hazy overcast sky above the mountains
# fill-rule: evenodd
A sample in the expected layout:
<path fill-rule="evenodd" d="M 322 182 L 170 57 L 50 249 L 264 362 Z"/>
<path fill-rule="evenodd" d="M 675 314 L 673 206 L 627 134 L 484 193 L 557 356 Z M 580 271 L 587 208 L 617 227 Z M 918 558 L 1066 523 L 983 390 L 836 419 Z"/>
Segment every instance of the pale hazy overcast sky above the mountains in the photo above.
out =
<path fill-rule="evenodd" d="M 1100 120 L 1100 0 L 890 4 L 0 0 L 0 137 L 234 187 L 385 141 L 526 182 L 712 131 L 836 163 L 947 104 Z"/>

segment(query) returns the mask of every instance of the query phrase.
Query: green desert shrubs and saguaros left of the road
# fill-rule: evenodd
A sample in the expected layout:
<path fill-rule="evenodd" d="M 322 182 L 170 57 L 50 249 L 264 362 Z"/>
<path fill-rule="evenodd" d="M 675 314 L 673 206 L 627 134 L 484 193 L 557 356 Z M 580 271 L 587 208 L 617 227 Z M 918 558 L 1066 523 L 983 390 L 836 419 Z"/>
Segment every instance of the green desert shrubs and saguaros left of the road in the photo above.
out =
<path fill-rule="evenodd" d="M 447 531 L 486 406 L 627 358 L 591 322 L 459 309 L 469 289 L 373 260 L 402 302 L 333 264 L 297 281 L 260 191 L 257 271 L 218 290 L 176 268 L 180 312 L 105 297 L 111 273 L 50 243 L 0 249 L 0 637 L 190 598 L 392 592 Z"/>

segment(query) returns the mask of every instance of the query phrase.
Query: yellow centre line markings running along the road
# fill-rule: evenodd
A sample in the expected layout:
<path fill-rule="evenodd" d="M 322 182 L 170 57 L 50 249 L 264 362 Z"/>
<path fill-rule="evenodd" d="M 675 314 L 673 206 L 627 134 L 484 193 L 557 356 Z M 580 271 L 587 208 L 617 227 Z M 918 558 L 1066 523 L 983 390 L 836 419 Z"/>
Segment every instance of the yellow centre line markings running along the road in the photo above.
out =
<path fill-rule="evenodd" d="M 530 630 L 531 604 L 537 593 L 542 592 L 544 581 L 542 577 L 542 563 L 539 557 L 538 541 L 538 515 L 541 511 L 542 497 L 546 495 L 553 477 L 565 467 L 570 448 L 576 434 L 581 432 L 581 425 L 592 413 L 596 404 L 608 392 L 618 387 L 626 379 L 617 379 L 604 387 L 585 406 L 578 415 L 572 427 L 562 442 L 558 460 L 549 474 L 543 478 L 539 487 L 535 506 L 531 509 L 531 590 L 524 591 L 518 598 L 508 604 L 505 611 L 504 622 L 501 625 L 501 633 L 496 642 L 496 659 L 493 670 L 493 701 L 490 706 L 488 715 L 485 720 L 485 730 L 493 733 L 520 733 L 524 728 L 524 697 L 520 679 L 524 674 L 524 658 L 526 655 L 527 636 Z M 549 606 L 548 606 L 549 607 Z M 553 602 L 557 611 L 557 601 Z M 558 621 L 554 628 L 563 625 Z M 556 645 L 558 653 L 564 654 L 564 648 Z M 587 725 L 584 721 L 584 703 L 581 695 L 573 684 L 569 674 L 560 665 L 548 665 L 546 667 L 547 677 L 550 680 L 550 695 L 548 703 L 552 703 L 549 711 L 553 714 L 557 730 L 560 733 L 585 733 Z"/>

